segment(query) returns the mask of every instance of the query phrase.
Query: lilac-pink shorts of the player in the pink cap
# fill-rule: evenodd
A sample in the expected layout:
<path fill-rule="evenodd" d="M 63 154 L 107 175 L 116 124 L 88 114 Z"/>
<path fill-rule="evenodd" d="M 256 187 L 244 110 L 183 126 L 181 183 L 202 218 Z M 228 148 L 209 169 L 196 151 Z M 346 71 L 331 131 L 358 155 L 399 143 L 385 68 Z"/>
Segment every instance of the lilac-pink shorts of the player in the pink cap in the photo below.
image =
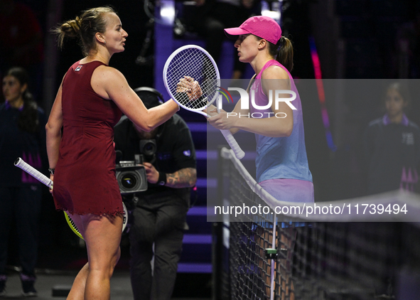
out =
<path fill-rule="evenodd" d="M 299 179 L 268 179 L 258 183 L 280 201 L 313 203 L 313 183 Z"/>

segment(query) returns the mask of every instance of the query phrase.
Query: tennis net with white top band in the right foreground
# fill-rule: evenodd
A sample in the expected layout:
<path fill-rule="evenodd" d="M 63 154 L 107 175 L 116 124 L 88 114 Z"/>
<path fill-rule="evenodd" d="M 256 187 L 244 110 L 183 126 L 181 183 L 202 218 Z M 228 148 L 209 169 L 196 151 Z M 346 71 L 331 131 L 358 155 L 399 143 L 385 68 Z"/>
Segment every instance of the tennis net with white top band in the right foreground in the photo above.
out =
<path fill-rule="evenodd" d="M 221 205 L 272 208 L 273 198 L 231 151 L 222 149 L 220 160 Z M 376 206 L 405 203 L 408 211 L 419 209 L 416 195 L 375 197 L 347 203 L 362 207 L 369 200 Z M 378 222 L 355 213 L 322 215 L 320 222 L 316 216 L 271 212 L 242 213 L 240 220 L 225 214 L 224 222 L 215 223 L 215 299 L 418 299 L 420 223 L 393 222 L 404 221 L 395 212 L 372 219 Z"/>

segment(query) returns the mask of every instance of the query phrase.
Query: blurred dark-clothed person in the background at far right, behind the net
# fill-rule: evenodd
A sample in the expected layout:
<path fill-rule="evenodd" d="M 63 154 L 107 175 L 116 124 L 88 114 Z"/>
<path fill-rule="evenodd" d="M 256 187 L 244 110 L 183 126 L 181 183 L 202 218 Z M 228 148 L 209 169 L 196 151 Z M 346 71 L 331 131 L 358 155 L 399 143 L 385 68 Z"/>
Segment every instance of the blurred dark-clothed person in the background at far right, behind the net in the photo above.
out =
<path fill-rule="evenodd" d="M 385 93 L 386 114 L 370 122 L 365 130 L 367 193 L 416 191 L 419 183 L 420 130 L 404 113 L 409 93 L 399 82 Z"/>

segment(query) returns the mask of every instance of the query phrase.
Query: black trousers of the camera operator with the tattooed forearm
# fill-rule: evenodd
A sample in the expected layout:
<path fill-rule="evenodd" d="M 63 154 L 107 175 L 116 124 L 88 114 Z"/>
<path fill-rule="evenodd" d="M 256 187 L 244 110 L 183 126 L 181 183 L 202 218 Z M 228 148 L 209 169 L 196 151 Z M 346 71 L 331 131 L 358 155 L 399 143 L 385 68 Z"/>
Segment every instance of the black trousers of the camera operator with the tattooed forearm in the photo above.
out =
<path fill-rule="evenodd" d="M 140 198 L 129 231 L 130 277 L 135 300 L 171 299 L 188 206 L 189 195 Z"/>

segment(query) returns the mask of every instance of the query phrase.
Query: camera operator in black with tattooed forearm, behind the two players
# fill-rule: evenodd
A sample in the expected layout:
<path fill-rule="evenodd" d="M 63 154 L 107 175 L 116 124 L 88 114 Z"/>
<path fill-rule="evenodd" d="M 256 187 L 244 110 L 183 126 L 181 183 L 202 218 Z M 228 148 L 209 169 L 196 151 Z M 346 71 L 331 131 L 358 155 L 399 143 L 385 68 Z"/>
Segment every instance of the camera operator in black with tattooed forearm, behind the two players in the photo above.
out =
<path fill-rule="evenodd" d="M 135 91 L 148 109 L 162 103 L 160 93 L 151 87 Z M 151 132 L 141 131 L 123 117 L 114 132 L 115 149 L 122 152 L 117 163 L 134 161 L 141 154 L 148 181 L 146 191 L 123 195 L 127 208 L 132 210 L 129 240 L 134 299 L 171 299 L 183 230 L 188 228 L 185 220 L 190 188 L 197 180 L 190 130 L 174 114 Z"/>

